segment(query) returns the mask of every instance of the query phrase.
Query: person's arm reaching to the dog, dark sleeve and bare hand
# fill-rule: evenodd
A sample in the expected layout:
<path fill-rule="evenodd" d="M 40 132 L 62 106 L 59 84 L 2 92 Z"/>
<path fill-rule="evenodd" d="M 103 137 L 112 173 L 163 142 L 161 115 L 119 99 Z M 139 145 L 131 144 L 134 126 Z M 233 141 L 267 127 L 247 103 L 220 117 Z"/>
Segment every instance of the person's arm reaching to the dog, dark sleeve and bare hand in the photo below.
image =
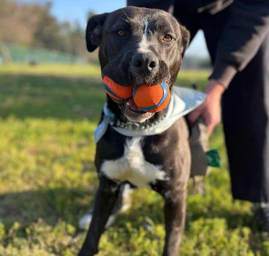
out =
<path fill-rule="evenodd" d="M 201 116 L 209 134 L 220 122 L 222 93 L 234 75 L 256 55 L 269 32 L 268 0 L 235 0 L 230 8 L 231 17 L 219 41 L 215 65 L 205 91 L 207 99 L 188 116 L 191 124 Z"/>

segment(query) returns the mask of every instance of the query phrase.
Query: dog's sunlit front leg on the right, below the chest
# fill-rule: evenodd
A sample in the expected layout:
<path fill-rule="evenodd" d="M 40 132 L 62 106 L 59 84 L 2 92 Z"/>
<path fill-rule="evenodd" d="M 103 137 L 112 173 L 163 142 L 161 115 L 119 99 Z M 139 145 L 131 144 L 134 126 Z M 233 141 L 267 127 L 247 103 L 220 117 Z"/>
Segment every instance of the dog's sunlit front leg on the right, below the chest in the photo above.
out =
<path fill-rule="evenodd" d="M 164 196 L 165 245 L 163 256 L 178 256 L 184 231 L 186 189 L 166 193 Z"/>

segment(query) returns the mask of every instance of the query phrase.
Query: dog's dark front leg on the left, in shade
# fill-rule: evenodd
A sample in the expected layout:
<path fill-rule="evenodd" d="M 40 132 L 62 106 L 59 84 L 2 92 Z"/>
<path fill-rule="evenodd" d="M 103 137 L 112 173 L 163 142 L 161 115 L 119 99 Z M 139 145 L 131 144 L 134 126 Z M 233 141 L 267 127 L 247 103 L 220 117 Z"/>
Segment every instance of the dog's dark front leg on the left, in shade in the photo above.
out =
<path fill-rule="evenodd" d="M 92 221 L 79 252 L 79 256 L 92 256 L 98 252 L 98 243 L 105 229 L 119 193 L 119 185 L 102 176 L 95 197 Z"/>

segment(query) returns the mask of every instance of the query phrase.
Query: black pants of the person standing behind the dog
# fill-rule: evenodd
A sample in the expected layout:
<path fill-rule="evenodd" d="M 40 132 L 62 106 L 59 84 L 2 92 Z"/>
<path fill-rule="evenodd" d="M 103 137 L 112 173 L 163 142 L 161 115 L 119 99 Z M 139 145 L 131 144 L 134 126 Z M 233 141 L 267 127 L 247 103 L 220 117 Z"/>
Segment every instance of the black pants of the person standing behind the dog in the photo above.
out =
<path fill-rule="evenodd" d="M 201 29 L 214 64 L 230 7 L 210 15 L 189 9 L 185 1 L 175 1 L 174 5 L 170 0 L 127 2 L 132 6 L 169 10 L 190 31 L 191 40 Z M 222 121 L 234 199 L 269 201 L 268 115 L 269 34 L 256 56 L 235 75 L 222 96 Z"/>

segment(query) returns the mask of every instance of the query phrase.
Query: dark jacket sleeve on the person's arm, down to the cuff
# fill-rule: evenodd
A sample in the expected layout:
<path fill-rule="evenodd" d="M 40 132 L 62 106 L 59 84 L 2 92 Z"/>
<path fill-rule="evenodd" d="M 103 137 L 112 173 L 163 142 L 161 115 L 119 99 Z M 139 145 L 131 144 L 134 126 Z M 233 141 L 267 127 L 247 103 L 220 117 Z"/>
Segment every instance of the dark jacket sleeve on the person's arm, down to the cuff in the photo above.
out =
<path fill-rule="evenodd" d="M 213 73 L 209 77 L 225 87 L 256 55 L 269 31 L 268 0 L 235 0 L 230 8 L 231 16 L 219 41 Z"/>

